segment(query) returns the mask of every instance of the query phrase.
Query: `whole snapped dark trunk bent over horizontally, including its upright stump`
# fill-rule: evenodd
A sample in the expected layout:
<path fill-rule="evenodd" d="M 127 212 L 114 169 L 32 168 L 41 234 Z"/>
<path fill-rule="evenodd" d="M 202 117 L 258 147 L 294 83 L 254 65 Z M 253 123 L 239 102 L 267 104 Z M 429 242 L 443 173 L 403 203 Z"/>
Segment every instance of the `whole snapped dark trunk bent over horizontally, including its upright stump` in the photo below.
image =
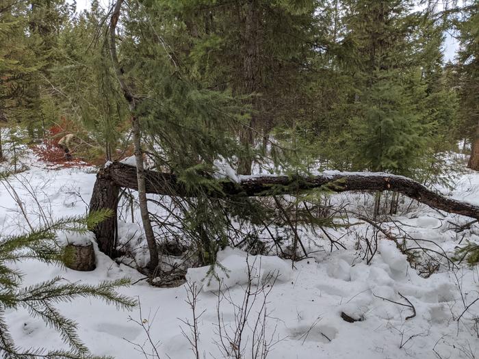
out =
<path fill-rule="evenodd" d="M 174 174 L 145 170 L 146 192 L 167 196 L 194 197 L 198 187 L 189 189 Z M 90 211 L 112 209 L 116 213 L 120 187 L 138 189 L 136 168 L 125 163 L 114 162 L 102 168 L 96 175 L 96 183 L 90 202 Z M 238 182 L 227 179 L 218 181 L 218 186 L 200 187 L 215 198 L 259 197 L 281 194 L 298 194 L 311 189 L 333 192 L 344 191 L 394 191 L 429 207 L 448 213 L 456 213 L 479 220 L 479 207 L 467 202 L 437 194 L 424 185 L 404 176 L 376 172 L 324 172 L 314 176 L 245 176 Z M 94 232 L 99 248 L 112 256 L 116 216 L 102 222 Z"/>

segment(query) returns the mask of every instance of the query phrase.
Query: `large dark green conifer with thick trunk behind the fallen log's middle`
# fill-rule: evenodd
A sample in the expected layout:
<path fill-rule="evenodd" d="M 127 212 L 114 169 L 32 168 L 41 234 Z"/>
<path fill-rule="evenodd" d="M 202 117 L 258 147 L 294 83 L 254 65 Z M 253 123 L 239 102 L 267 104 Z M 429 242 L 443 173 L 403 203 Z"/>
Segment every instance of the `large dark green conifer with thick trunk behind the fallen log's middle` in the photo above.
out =
<path fill-rule="evenodd" d="M 152 18 L 192 78 L 203 88 L 229 90 L 244 104 L 235 133 L 243 146 L 238 173 L 250 174 L 268 132 L 304 112 L 308 62 L 318 50 L 317 1 L 153 1 Z M 155 25 L 155 24 L 153 24 Z M 155 25 L 156 26 L 156 25 Z M 263 142 L 263 146 L 260 143 Z"/>

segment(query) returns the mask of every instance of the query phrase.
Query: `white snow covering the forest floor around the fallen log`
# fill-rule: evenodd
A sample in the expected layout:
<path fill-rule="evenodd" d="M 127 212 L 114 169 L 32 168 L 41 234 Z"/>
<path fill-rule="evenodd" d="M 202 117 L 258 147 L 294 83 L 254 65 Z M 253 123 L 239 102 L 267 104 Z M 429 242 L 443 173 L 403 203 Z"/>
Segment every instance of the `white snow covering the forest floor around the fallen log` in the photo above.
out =
<path fill-rule="evenodd" d="M 3 235 L 27 228 L 23 215 L 19 214 L 21 211 L 33 224 L 40 220 L 39 207 L 53 217 L 86 213 L 95 180 L 94 169 L 52 170 L 34 159 L 27 165 L 30 169 L 26 172 L 8 177 L 8 183 L 0 182 Z M 15 202 L 13 189 L 21 202 Z M 33 193 L 36 199 L 31 196 Z M 479 204 L 479 174 L 461 175 L 451 194 L 454 198 Z M 350 200 L 354 198 L 357 197 L 351 195 Z M 448 254 L 452 254 L 461 240 L 479 243 L 477 224 L 470 230 L 456 233 L 449 223 L 463 224 L 469 218 L 443 217 L 421 206 L 396 220 L 401 222 L 400 229 L 391 227 L 391 232 L 406 230 L 413 239 L 435 241 L 435 248 Z M 254 358 L 258 337 L 270 343 L 267 345 L 268 358 L 273 359 L 473 359 L 479 356 L 479 302 L 463 314 L 465 307 L 479 297 L 477 267 L 470 269 L 461 265 L 447 270 L 441 266 L 439 272 L 423 278 L 410 267 L 396 244 L 384 236 L 379 237 L 378 252 L 367 265 L 357 243 L 371 230 L 364 222 L 348 228 L 342 239 L 347 250 L 329 252 L 328 243 L 318 239 L 323 241 L 325 250 L 295 263 L 294 269 L 291 261 L 272 256 L 247 256 L 241 250 L 226 248 L 218 255 L 220 264 L 226 269 L 217 269 L 222 277 L 221 285 L 214 279 L 203 280 L 208 268 L 190 269 L 187 274 L 190 285 L 196 283 L 200 288 L 196 302 L 196 315 L 200 315 L 200 358 L 223 358 L 225 351 L 234 351 L 237 342 L 226 336 L 233 336 L 239 316 L 244 313 L 242 308 L 250 308 L 240 344 L 244 358 Z M 88 283 L 125 276 L 132 282 L 142 278 L 135 269 L 118 265 L 101 252 L 96 254 L 97 267 L 91 272 L 35 261 L 25 261 L 18 269 L 25 274 L 25 285 L 53 276 Z M 262 290 L 256 291 L 257 286 L 253 286 L 257 295 L 251 295 L 248 305 L 242 307 L 248 289 L 248 272 L 253 284 Z M 149 328 L 161 358 L 194 358 L 192 347 L 183 334 L 190 335 L 185 321 L 193 321 L 192 310 L 185 302 L 188 295 L 191 297 L 187 288 L 185 284 L 160 289 L 140 280 L 122 289 L 122 293 L 138 297 L 141 316 L 140 308 L 124 312 L 94 300 L 75 300 L 59 308 L 79 323 L 79 336 L 96 355 L 144 358 L 138 345 L 152 353 L 147 333 L 135 323 L 138 321 Z M 349 323 L 341 318 L 341 313 L 361 321 Z M 461 319 L 457 320 L 459 317 Z M 27 312 L 10 312 L 7 318 L 19 346 L 64 347 L 53 330 L 45 328 L 42 321 L 31 319 Z"/>

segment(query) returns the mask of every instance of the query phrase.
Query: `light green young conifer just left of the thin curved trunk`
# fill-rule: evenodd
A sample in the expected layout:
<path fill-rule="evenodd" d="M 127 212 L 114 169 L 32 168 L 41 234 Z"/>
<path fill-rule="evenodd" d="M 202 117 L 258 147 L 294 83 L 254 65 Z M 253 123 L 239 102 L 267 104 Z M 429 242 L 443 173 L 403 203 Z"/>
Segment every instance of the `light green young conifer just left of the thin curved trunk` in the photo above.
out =
<path fill-rule="evenodd" d="M 93 2 L 64 27 L 58 38 L 58 62 L 51 69 L 56 109 L 76 125 L 75 135 L 87 143 L 87 158 L 118 159 L 116 149 L 125 148 L 122 132 L 127 128 L 127 107 L 112 76 L 110 55 L 102 23 L 107 15 Z M 123 145 L 123 146 L 122 146 Z M 78 150 L 76 151 L 78 154 Z"/>

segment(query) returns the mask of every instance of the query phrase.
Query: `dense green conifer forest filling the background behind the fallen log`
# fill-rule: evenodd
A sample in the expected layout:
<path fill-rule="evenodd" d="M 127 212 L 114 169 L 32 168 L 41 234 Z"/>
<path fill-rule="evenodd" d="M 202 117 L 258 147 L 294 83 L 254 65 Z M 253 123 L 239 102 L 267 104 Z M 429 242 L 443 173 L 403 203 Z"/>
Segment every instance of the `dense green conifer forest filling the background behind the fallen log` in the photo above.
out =
<path fill-rule="evenodd" d="M 3 129 L 36 141 L 58 127 L 81 139 L 77 156 L 118 158 L 130 113 L 109 54 L 111 12 L 3 1 Z M 474 1 L 131 1 L 117 47 L 144 146 L 161 146 L 155 159 L 169 170 L 222 157 L 250 174 L 268 158 L 430 181 L 439 154 L 474 144 L 478 27 Z M 445 31 L 460 42 L 454 63 L 443 60 Z"/>

